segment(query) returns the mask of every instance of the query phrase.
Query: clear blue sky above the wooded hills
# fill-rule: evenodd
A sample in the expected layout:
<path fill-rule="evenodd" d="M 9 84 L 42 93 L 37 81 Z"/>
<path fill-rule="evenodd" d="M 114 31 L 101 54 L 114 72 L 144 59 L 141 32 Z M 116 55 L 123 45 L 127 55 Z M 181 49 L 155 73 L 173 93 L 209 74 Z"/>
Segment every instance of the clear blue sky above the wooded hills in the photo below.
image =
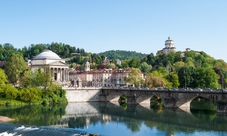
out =
<path fill-rule="evenodd" d="M 0 44 L 154 53 L 170 37 L 227 62 L 227 0 L 1 0 Z"/>

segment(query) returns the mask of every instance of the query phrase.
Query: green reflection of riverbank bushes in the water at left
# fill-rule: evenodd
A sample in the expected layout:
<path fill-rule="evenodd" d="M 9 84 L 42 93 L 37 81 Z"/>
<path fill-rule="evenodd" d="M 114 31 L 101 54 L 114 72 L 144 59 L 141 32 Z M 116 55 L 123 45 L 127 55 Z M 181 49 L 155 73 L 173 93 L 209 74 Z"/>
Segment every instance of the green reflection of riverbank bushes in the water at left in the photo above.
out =
<path fill-rule="evenodd" d="M 25 107 L 9 107 L 0 109 L 1 115 L 16 119 L 15 123 L 48 126 L 61 120 L 65 115 L 66 105 L 41 106 L 31 105 Z"/>

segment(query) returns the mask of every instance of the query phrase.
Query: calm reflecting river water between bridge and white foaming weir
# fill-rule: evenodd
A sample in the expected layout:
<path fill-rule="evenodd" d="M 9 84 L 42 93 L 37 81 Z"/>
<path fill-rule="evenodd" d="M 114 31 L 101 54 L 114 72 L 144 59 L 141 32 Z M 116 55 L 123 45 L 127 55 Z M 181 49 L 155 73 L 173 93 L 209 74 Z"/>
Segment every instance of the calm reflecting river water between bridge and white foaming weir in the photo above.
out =
<path fill-rule="evenodd" d="M 216 112 L 191 112 L 189 114 L 179 109 L 153 110 L 140 105 L 127 105 L 123 109 L 119 104 L 98 102 L 0 108 L 0 115 L 16 118 L 14 123 L 23 125 L 77 128 L 94 133 L 107 133 L 119 127 L 116 134 L 130 132 L 130 135 L 142 135 L 145 132 L 187 135 L 210 131 L 214 131 L 215 135 L 227 134 L 227 117 L 217 116 Z"/>

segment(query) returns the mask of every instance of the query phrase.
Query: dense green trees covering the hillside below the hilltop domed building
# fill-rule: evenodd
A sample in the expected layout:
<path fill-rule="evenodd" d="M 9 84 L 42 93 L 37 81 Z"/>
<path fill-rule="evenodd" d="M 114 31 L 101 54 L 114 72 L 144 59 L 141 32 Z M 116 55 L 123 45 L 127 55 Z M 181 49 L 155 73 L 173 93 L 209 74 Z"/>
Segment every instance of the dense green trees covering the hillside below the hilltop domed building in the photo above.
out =
<path fill-rule="evenodd" d="M 172 52 L 157 56 L 150 54 L 141 62 L 153 67 L 153 75 L 148 75 L 147 80 L 164 80 L 166 86 L 161 84 L 162 87 L 225 88 L 226 85 L 227 63 L 215 60 L 204 52 Z"/>

